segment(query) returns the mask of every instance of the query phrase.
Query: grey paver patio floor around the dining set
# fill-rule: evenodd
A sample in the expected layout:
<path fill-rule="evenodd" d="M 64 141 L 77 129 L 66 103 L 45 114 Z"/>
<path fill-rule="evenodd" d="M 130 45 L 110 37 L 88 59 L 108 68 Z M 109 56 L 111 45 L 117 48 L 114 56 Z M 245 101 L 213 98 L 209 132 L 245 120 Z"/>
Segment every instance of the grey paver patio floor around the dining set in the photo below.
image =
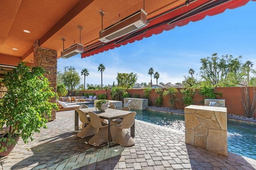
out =
<path fill-rule="evenodd" d="M 0 158 L 2 170 L 172 170 L 256 169 L 256 160 L 228 152 L 228 157 L 185 144 L 182 131 L 135 121 L 136 144 L 91 146 L 91 137 L 78 138 L 74 111 L 57 112 L 34 141 L 20 139 L 14 150 Z"/>

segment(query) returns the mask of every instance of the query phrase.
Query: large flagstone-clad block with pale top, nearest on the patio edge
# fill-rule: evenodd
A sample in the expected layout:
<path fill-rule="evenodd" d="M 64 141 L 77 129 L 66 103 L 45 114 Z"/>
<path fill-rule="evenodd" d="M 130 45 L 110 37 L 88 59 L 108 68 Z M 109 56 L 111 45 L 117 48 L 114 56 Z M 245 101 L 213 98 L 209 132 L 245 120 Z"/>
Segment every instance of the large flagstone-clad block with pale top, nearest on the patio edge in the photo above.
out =
<path fill-rule="evenodd" d="M 225 107 L 185 107 L 185 142 L 228 156 L 227 110 Z"/>

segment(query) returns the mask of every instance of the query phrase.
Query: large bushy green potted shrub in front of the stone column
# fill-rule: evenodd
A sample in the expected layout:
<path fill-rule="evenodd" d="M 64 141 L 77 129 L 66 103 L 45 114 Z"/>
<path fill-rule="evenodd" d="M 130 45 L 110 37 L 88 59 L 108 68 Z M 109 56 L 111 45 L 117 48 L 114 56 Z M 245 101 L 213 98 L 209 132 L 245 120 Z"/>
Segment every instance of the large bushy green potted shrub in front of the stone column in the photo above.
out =
<path fill-rule="evenodd" d="M 48 101 L 57 94 L 44 73 L 42 67 L 28 67 L 21 62 L 4 76 L 7 93 L 0 101 L 0 156 L 10 153 L 9 146 L 16 144 L 17 136 L 25 143 L 29 138 L 34 140 L 34 132 L 46 128 L 52 109 L 58 109 L 56 103 Z"/>

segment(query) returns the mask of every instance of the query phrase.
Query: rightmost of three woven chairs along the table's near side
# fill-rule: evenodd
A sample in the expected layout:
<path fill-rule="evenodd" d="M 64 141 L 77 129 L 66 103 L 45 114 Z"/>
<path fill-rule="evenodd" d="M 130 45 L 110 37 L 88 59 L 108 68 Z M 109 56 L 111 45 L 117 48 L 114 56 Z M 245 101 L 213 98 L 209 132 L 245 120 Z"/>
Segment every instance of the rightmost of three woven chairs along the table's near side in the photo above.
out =
<path fill-rule="evenodd" d="M 122 146 L 132 146 L 135 144 L 135 140 L 130 136 L 126 129 L 132 127 L 134 124 L 136 112 L 128 113 L 124 116 L 122 124 L 111 125 L 111 137 L 112 141 Z"/>

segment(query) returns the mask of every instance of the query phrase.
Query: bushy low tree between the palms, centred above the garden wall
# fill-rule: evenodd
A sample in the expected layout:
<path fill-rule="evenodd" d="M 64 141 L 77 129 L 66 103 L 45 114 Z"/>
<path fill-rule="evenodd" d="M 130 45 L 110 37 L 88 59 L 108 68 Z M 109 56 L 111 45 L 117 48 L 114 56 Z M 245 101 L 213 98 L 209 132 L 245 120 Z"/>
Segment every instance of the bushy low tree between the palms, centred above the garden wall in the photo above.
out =
<path fill-rule="evenodd" d="M 134 83 L 136 83 L 138 76 L 134 73 L 117 73 L 116 80 L 118 82 L 118 86 L 129 89 L 134 85 Z"/>

